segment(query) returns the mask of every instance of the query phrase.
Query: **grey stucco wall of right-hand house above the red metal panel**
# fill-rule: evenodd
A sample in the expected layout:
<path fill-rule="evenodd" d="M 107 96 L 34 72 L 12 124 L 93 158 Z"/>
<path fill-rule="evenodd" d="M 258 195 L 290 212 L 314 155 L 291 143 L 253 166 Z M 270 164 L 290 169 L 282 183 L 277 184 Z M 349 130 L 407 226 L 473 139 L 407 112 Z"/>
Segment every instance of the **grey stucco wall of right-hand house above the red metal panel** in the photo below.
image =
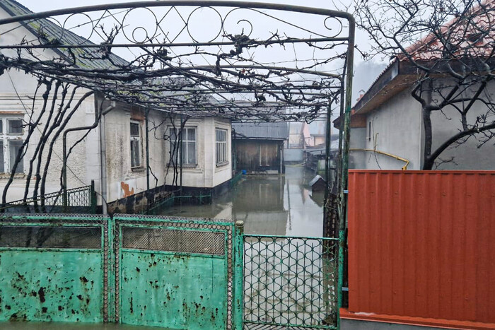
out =
<path fill-rule="evenodd" d="M 438 84 L 449 85 L 449 81 L 436 81 Z M 495 95 L 495 83 L 490 82 L 486 88 L 489 98 Z M 470 93 L 462 95 L 470 98 Z M 485 97 L 486 98 L 486 97 Z M 433 100 L 440 98 L 433 94 Z M 487 106 L 475 102 L 467 113 L 467 123 L 474 124 L 476 118 L 487 113 Z M 371 139 L 368 139 L 369 124 L 371 123 Z M 460 114 L 454 107 L 445 107 L 431 114 L 433 142 L 432 152 L 444 141 L 462 130 Z M 363 132 L 366 132 L 363 136 Z M 362 144 L 364 138 L 364 143 Z M 434 166 L 439 170 L 493 170 L 495 164 L 495 146 L 493 142 L 481 146 L 479 139 L 471 136 L 464 143 L 455 143 L 441 153 Z M 363 145 L 363 147 L 359 147 Z M 479 146 L 481 146 L 479 148 Z M 421 170 L 424 153 L 424 126 L 421 115 L 421 105 L 411 97 L 409 90 L 390 98 L 372 112 L 366 114 L 366 129 L 351 129 L 351 148 L 376 149 L 406 158 L 410 161 L 409 170 Z M 386 155 L 372 152 L 351 151 L 355 160 L 353 168 L 400 170 L 404 162 Z M 452 161 L 451 161 L 452 160 Z"/>

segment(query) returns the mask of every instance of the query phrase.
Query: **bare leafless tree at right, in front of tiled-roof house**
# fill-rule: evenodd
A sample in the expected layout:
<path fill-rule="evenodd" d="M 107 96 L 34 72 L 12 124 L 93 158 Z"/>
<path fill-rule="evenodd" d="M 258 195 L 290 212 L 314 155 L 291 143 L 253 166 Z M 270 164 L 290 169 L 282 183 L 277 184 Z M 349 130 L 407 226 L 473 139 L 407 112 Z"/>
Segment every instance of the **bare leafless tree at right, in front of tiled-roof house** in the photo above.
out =
<path fill-rule="evenodd" d="M 412 97 L 421 104 L 424 170 L 455 157 L 448 148 L 476 139 L 480 148 L 495 136 L 495 4 L 492 0 L 356 1 L 357 25 L 373 47 L 365 57 L 385 55 L 400 61 L 413 79 Z M 441 118 L 457 127 L 435 141 Z"/>

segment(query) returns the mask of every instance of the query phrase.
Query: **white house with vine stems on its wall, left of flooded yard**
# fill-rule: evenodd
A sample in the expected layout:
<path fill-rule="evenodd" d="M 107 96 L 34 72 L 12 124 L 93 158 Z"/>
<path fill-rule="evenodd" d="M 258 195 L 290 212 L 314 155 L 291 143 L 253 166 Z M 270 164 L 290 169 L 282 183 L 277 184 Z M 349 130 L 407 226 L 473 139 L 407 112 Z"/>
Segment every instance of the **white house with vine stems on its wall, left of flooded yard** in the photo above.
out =
<path fill-rule="evenodd" d="M 16 1 L 0 2 L 0 18 L 26 13 L 31 12 Z M 42 28 L 45 32 L 57 28 L 49 20 L 42 19 L 37 23 L 44 25 Z M 0 45 L 16 44 L 23 40 L 23 37 L 26 39 L 39 37 L 38 31 L 30 25 L 13 23 L 2 26 L 2 30 L 6 33 L 0 31 Z M 76 42 L 78 38 L 81 38 L 67 30 L 64 31 L 64 36 Z M 1 52 L 7 55 L 12 51 L 2 50 Z M 37 56 L 51 59 L 59 56 L 55 52 L 57 50 L 43 50 L 38 52 Z M 25 56 L 28 57 L 29 54 Z M 78 61 L 85 60 L 78 59 Z M 112 61 L 124 62 L 114 54 L 112 54 Z M 105 67 L 112 64 L 101 59 L 86 61 L 84 65 Z M 68 112 L 74 109 L 76 103 L 90 90 L 77 88 L 71 107 L 64 113 L 63 109 L 67 105 L 74 86 L 68 88 L 66 100 L 62 102 L 62 86 L 55 98 L 54 83 L 45 101 L 42 98 L 45 85 L 37 89 L 38 80 L 35 76 L 14 69 L 6 70 L 0 75 L 0 86 L 0 151 L 2 152 L 0 153 L 0 191 L 6 187 L 18 148 L 31 135 L 27 151 L 8 188 L 7 201 L 23 198 L 27 179 L 30 182 L 28 197 L 33 195 L 36 181 L 38 181 L 39 190 L 42 179 L 36 179 L 36 172 L 40 173 L 41 178 L 45 177 L 45 194 L 60 191 L 64 132 L 67 129 L 95 125 L 98 119 L 95 114 L 98 114 L 100 110 L 103 111 L 103 115 L 100 121 L 97 121 L 98 126 L 66 133 L 67 151 L 74 143 L 82 139 L 71 151 L 67 161 L 67 188 L 86 186 L 94 180 L 98 192 L 98 204 L 105 204 L 105 201 L 110 203 L 145 191 L 148 186 L 147 167 L 151 173 L 150 188 L 173 184 L 173 168 L 171 168 L 173 162 L 170 162 L 170 151 L 171 147 L 178 144 L 174 136 L 178 133 L 174 131 L 174 126 L 180 126 L 178 117 L 173 123 L 170 122 L 165 112 L 148 111 L 149 164 L 146 164 L 146 109 L 122 102 L 104 100 L 99 93 L 93 93 L 86 95 L 80 107 L 70 117 Z M 46 106 L 44 106 L 45 102 Z M 35 125 L 38 117 L 40 120 Z M 50 129 L 44 131 L 46 126 L 53 126 L 57 118 L 62 123 L 62 119 L 67 119 L 66 125 L 55 126 L 51 134 L 48 134 Z M 32 134 L 28 134 L 31 126 L 36 126 L 36 129 Z M 42 136 L 47 136 L 45 143 L 39 143 L 42 141 Z M 172 141 L 170 141 L 170 136 L 174 136 Z M 52 141 L 54 141 L 53 148 L 50 148 Z M 44 168 L 50 150 L 52 150 L 50 165 L 47 166 L 45 173 Z M 177 159 L 182 158 L 183 187 L 215 189 L 228 182 L 231 179 L 230 119 L 221 117 L 188 119 L 182 134 L 182 156 L 177 153 L 175 155 Z M 180 162 L 175 163 L 180 165 Z M 37 167 L 40 167 L 40 170 L 37 170 Z M 29 178 L 30 172 L 32 175 Z M 39 195 L 40 191 L 37 194 Z"/>

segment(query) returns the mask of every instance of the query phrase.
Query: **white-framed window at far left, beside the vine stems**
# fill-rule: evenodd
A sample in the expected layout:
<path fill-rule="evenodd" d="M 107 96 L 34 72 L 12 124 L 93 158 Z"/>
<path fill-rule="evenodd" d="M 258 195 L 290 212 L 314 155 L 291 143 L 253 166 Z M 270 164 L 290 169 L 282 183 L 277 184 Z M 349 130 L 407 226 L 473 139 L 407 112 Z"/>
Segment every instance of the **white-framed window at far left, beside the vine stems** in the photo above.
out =
<path fill-rule="evenodd" d="M 24 144 L 24 141 L 21 139 L 23 134 L 23 119 L 0 118 L 0 173 L 24 172 L 22 158 L 17 164 L 16 169 L 13 169 L 17 155 Z"/>

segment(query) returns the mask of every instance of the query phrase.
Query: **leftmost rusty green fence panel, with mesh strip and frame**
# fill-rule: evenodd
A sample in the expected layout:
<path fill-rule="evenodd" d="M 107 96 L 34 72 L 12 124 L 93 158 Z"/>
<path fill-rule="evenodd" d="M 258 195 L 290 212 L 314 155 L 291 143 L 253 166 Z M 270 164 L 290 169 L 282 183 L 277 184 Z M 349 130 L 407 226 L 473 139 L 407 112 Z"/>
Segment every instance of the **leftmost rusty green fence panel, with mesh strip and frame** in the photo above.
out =
<path fill-rule="evenodd" d="M 101 216 L 0 218 L 0 322 L 107 322 Z"/>

